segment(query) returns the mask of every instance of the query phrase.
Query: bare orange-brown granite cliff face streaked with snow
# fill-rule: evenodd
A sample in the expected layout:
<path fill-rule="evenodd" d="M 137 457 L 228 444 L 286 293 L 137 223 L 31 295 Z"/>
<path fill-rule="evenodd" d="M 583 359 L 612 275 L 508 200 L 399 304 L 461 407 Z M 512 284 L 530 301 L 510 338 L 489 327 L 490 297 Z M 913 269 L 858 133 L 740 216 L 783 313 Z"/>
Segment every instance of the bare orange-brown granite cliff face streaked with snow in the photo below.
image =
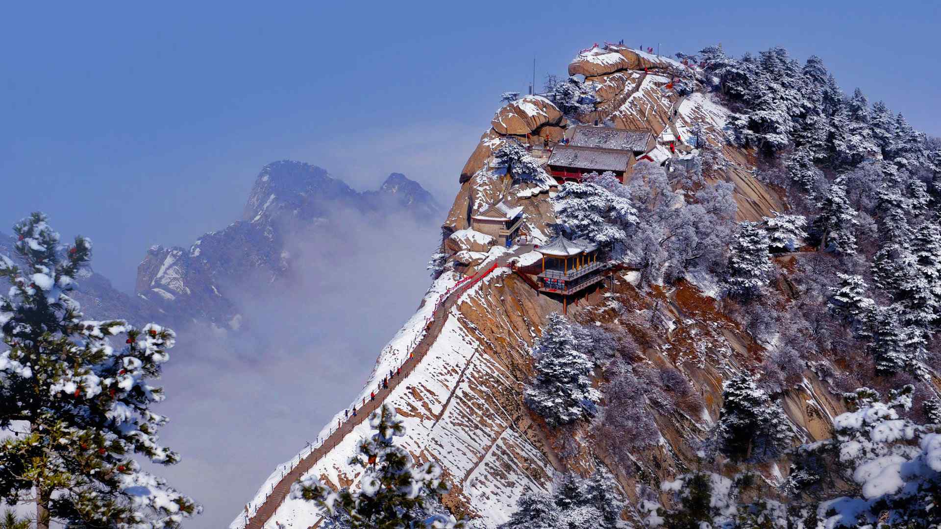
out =
<path fill-rule="evenodd" d="M 734 184 L 739 219 L 758 220 L 785 211 L 785 200 L 755 177 L 755 153 L 726 143 L 722 130 L 728 109 L 701 87 L 686 95 L 678 95 L 672 88 L 675 79 L 696 77 L 689 67 L 665 57 L 609 46 L 580 54 L 569 72 L 585 75 L 587 85 L 595 90 L 592 111 L 569 120 L 548 99 L 528 96 L 497 112 L 460 171 L 461 188 L 443 223 L 442 248 L 448 254 L 444 271 L 430 287 L 419 312 L 383 349 L 375 377 L 354 403 L 369 396 L 370 388 L 375 388 L 389 366 L 407 358 L 409 344 L 420 335 L 421 326 L 416 322 L 430 314 L 429 306 L 442 293 L 455 282 L 505 259 L 509 250 L 494 247 L 486 236 L 469 234 L 475 233 L 469 230 L 470 216 L 503 200 L 523 208 L 525 232 L 534 242 L 549 240 L 555 221 L 550 197 L 556 184 L 549 177 L 526 182 L 508 177 L 493 157 L 508 142 L 530 142 L 535 152 L 544 139 L 558 141 L 574 120 L 598 121 L 650 131 L 661 146 L 660 152 L 651 154 L 656 159 L 671 157 L 666 147 L 670 137 L 688 137 L 695 129 L 701 141 L 722 153 L 724 163 L 715 168 L 710 179 Z M 520 256 L 516 262 L 526 265 L 527 259 L 532 258 Z M 495 527 L 516 509 L 524 491 L 550 489 L 554 472 L 589 473 L 598 465 L 607 466 L 630 499 L 636 500 L 636 484 L 656 487 L 661 479 L 694 464 L 694 446 L 718 417 L 722 381 L 757 365 L 762 347 L 722 312 L 718 300 L 692 284 L 681 281 L 670 289 L 655 285 L 642 290 L 634 286 L 635 279 L 630 272 L 615 273 L 604 289 L 568 311 L 575 321 L 626 329 L 641 346 L 643 358 L 638 362 L 650 369 L 677 369 L 696 394 L 694 402 L 682 411 L 663 412 L 653 406 L 647 410 L 662 439 L 634 454 L 633 468 L 615 464 L 608 441 L 597 439 L 589 427 L 560 434 L 522 404 L 524 383 L 532 374 L 529 348 L 547 315 L 562 312 L 560 302 L 539 295 L 508 266 L 498 266 L 460 297 L 429 354 L 386 397 L 386 402 L 407 417 L 408 433 L 403 442 L 407 449 L 418 460 L 434 459 L 445 469 L 453 484 L 445 504 L 455 514 L 469 516 L 474 527 Z M 790 420 L 807 440 L 828 435 L 829 418 L 842 410 L 809 372 L 803 384 L 785 394 L 784 402 Z M 331 424 L 342 417 L 341 412 Z M 345 459 L 367 429 L 365 425 L 354 428 L 309 473 L 337 487 L 355 487 L 358 474 Z M 328 434 L 329 425 L 320 436 Z M 559 435 L 568 439 L 559 439 Z M 562 445 L 566 446 L 565 455 L 559 454 Z M 280 470 L 290 468 L 291 464 L 285 464 Z M 769 480 L 780 477 L 776 467 L 759 470 Z M 265 503 L 268 489 L 278 481 L 276 471 L 249 502 L 249 514 Z M 277 501 L 279 507 L 265 527 L 275 527 L 275 522 L 314 527 L 321 522 L 310 503 L 268 501 Z M 636 512 L 625 516 L 639 520 Z M 245 524 L 241 516 L 231 527 Z"/>

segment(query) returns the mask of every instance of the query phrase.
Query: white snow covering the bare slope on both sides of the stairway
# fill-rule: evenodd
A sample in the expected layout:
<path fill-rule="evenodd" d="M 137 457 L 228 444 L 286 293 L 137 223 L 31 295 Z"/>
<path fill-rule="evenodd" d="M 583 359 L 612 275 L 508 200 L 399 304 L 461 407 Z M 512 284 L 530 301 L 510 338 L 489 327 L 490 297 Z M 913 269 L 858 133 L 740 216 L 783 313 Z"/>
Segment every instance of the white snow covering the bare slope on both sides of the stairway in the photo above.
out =
<path fill-rule="evenodd" d="M 505 248 L 494 248 L 490 259 L 505 253 Z M 500 251 L 503 250 L 503 251 Z M 482 265 L 483 267 L 483 265 Z M 461 301 L 479 297 L 481 285 L 502 281 L 510 273 L 505 267 L 494 270 L 477 285 L 471 287 Z M 405 361 L 411 343 L 423 330 L 425 317 L 433 311 L 438 297 L 455 284 L 458 277 L 446 273 L 432 284 L 424 297 L 423 306 L 413 315 L 406 325 L 392 338 L 379 356 L 373 377 L 366 383 L 363 392 L 354 402 L 361 403 L 363 397 L 369 398 L 369 392 L 375 388 L 378 380 L 388 374 L 390 369 Z M 487 398 L 489 395 L 477 393 L 474 381 L 479 378 L 498 377 L 505 379 L 508 385 L 515 385 L 513 378 L 499 365 L 485 355 L 477 354 L 479 338 L 470 336 L 472 326 L 462 323 L 462 316 L 455 305 L 441 329 L 439 338 L 432 345 L 423 361 L 415 366 L 405 383 L 392 391 L 385 402 L 402 409 L 407 426 L 407 436 L 402 446 L 411 454 L 422 454 L 439 461 L 447 473 L 460 479 L 464 484 L 464 493 L 470 504 L 479 509 L 487 526 L 497 525 L 508 520 L 515 510 L 520 495 L 528 490 L 545 490 L 542 483 L 536 482 L 532 469 L 505 469 L 508 460 L 501 457 L 506 453 L 524 454 L 536 468 L 551 474 L 550 462 L 515 429 L 514 417 L 499 403 Z M 416 396 L 417 395 L 417 396 Z M 421 408 L 419 408 L 421 407 Z M 486 417 L 486 427 L 480 427 L 479 417 Z M 326 437 L 336 427 L 337 419 L 343 417 L 341 411 L 320 432 Z M 304 477 L 325 476 L 336 484 L 339 476 L 357 480 L 358 476 L 348 473 L 347 459 L 352 456 L 360 437 L 369 433 L 369 425 L 363 422 L 353 434 L 347 435 L 336 448 L 323 457 Z M 300 457 L 308 453 L 305 449 Z M 298 457 L 293 459 L 296 462 Z M 263 484 L 249 507 L 254 512 L 263 502 L 265 491 L 270 490 L 280 479 L 282 472 L 287 472 L 292 462 L 285 463 Z M 353 487 L 359 485 L 354 483 Z M 318 509 L 310 502 L 287 499 L 268 521 L 266 527 L 276 527 L 276 522 L 288 527 L 309 527 L 320 520 Z M 245 526 L 244 514 L 232 521 L 231 529 Z"/>

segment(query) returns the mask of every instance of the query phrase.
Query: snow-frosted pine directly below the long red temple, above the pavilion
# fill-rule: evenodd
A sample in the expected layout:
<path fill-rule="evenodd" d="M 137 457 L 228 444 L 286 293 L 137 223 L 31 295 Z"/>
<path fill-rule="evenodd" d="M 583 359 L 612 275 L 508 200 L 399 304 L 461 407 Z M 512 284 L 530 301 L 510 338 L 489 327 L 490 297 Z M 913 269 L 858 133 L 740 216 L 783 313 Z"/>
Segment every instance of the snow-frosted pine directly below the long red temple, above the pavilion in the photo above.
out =
<path fill-rule="evenodd" d="M 627 197 L 590 181 L 562 184 L 552 203 L 556 221 L 570 236 L 601 246 L 624 243 L 625 227 L 637 223 L 637 211 Z"/>

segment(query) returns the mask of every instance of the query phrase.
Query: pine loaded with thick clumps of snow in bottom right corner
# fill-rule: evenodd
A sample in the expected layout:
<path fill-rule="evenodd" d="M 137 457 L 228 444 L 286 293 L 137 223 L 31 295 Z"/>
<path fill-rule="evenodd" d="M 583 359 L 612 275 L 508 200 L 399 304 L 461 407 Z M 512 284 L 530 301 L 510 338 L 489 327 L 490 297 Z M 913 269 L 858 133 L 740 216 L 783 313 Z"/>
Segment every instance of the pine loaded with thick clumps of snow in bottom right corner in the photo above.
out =
<path fill-rule="evenodd" d="M 816 519 L 814 526 L 914 529 L 941 524 L 936 508 L 941 435 L 933 426 L 901 416 L 911 409 L 913 394 L 912 386 L 893 390 L 885 399 L 869 388 L 845 393 L 851 411 L 834 419 L 833 439 L 794 451 L 791 485 L 799 491 L 816 489 L 826 500 L 806 509 L 808 518 Z M 797 483 L 795 475 L 800 477 Z M 808 526 L 799 522 L 791 526 Z"/>

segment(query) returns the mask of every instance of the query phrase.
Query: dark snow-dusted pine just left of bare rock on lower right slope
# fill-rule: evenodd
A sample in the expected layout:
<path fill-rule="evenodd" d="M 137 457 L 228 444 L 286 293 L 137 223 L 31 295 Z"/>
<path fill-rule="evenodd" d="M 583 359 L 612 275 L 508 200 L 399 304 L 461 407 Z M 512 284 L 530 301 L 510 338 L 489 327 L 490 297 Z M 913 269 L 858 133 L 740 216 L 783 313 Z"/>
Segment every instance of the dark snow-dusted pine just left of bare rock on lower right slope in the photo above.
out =
<path fill-rule="evenodd" d="M 794 431 L 780 403 L 772 402 L 742 373 L 727 380 L 722 389 L 722 411 L 712 433 L 714 446 L 734 461 L 762 462 L 780 457 Z"/>

